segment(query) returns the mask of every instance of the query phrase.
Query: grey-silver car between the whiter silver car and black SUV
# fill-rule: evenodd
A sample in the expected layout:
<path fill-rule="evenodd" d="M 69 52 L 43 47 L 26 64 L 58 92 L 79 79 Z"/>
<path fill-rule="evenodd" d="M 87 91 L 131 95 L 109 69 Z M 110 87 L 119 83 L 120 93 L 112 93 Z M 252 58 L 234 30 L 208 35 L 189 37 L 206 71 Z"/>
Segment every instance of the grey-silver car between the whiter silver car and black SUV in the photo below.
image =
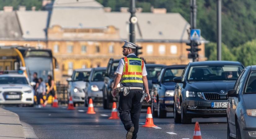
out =
<path fill-rule="evenodd" d="M 106 68 L 99 67 L 93 68 L 90 77 L 86 81 L 85 87 L 85 106 L 88 107 L 89 99 L 92 98 L 95 103 L 102 103 L 103 92 L 102 88 L 104 86 L 104 75 L 106 73 Z"/>

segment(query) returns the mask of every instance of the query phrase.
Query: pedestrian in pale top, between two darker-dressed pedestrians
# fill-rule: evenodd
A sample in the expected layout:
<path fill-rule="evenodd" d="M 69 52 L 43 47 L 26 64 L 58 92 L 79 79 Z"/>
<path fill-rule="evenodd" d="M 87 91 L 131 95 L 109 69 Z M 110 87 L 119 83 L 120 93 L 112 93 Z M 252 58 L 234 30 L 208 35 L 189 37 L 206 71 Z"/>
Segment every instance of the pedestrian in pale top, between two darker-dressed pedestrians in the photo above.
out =
<path fill-rule="evenodd" d="M 45 82 L 43 82 L 43 78 L 39 78 L 38 79 L 38 88 L 37 88 L 37 106 L 41 107 L 40 105 L 40 99 L 43 99 L 43 96 L 45 95 L 45 91 L 46 91 L 46 86 L 45 86 Z M 43 100 L 44 101 L 44 100 Z M 43 104 L 43 107 L 45 107 L 45 105 Z"/>

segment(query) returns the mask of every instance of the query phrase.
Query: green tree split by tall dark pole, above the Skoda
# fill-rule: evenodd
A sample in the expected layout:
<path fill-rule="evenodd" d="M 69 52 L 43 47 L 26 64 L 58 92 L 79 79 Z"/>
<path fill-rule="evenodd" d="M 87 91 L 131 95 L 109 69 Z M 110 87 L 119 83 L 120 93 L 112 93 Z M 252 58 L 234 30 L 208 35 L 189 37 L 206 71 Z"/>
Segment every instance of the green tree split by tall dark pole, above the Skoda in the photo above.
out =
<path fill-rule="evenodd" d="M 217 44 L 216 43 L 209 43 L 205 45 L 205 56 L 208 57 L 208 60 L 217 60 Z M 227 45 L 222 43 L 222 60 L 225 61 L 236 61 L 237 58 L 231 52 Z"/>

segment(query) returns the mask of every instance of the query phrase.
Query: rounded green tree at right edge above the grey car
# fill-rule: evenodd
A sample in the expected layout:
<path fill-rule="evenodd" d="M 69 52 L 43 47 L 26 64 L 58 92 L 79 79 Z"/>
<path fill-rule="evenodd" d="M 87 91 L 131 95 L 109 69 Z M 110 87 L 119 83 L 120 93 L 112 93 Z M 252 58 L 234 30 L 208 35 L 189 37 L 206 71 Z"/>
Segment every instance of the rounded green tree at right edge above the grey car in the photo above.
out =
<path fill-rule="evenodd" d="M 248 41 L 245 44 L 234 48 L 237 60 L 244 66 L 256 65 L 256 40 Z"/>

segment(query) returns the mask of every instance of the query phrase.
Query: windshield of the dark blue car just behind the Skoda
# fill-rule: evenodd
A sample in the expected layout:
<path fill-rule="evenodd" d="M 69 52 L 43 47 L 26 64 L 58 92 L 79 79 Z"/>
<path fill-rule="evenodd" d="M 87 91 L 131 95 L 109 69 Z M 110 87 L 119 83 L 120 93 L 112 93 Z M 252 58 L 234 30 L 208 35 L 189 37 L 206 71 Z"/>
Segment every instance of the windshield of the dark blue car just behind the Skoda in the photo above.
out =
<path fill-rule="evenodd" d="M 181 76 L 183 69 L 166 69 L 162 82 L 173 82 L 174 77 Z"/>

